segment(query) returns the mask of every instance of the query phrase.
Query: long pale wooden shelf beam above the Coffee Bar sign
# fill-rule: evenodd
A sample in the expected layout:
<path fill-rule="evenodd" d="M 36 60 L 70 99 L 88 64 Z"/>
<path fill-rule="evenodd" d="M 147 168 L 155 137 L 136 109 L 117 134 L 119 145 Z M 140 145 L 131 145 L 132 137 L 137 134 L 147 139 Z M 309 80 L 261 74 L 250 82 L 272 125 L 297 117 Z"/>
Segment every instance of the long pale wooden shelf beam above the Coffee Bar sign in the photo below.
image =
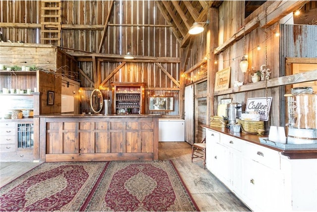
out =
<path fill-rule="evenodd" d="M 278 87 L 283 85 L 290 85 L 301 82 L 309 82 L 317 80 L 317 70 L 307 71 L 304 73 L 293 74 L 289 76 L 278 77 L 274 79 L 267 80 L 267 88 Z M 243 85 L 240 87 L 233 87 L 222 91 L 214 92 L 214 96 L 220 96 L 225 94 L 254 91 L 265 88 L 265 82 L 260 81 L 256 83 L 251 83 Z"/>

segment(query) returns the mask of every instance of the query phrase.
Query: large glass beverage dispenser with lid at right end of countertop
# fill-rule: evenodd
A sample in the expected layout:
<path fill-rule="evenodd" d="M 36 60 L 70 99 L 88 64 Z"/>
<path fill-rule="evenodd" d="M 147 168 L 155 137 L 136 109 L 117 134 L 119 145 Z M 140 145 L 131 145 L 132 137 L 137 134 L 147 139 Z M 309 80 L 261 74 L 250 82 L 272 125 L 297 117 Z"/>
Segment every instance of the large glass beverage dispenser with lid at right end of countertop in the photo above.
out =
<path fill-rule="evenodd" d="M 317 144 L 317 94 L 312 87 L 292 88 L 285 95 L 288 144 Z"/>

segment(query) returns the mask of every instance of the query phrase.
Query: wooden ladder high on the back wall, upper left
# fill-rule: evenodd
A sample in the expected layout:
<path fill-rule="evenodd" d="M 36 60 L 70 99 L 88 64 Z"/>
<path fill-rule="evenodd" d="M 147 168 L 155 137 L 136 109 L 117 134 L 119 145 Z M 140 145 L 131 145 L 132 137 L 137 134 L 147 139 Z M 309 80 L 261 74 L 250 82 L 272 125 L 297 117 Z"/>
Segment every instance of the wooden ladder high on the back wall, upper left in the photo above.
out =
<path fill-rule="evenodd" d="M 41 44 L 61 44 L 61 1 L 41 1 Z"/>

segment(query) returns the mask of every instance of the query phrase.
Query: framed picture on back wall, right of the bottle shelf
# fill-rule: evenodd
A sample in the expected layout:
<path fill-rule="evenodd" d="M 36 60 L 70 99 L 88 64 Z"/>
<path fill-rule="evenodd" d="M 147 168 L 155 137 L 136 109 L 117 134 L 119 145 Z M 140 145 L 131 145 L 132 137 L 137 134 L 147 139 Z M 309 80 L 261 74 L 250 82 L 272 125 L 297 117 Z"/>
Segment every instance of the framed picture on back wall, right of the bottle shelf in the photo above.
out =
<path fill-rule="evenodd" d="M 174 97 L 149 97 L 149 110 L 173 110 Z"/>

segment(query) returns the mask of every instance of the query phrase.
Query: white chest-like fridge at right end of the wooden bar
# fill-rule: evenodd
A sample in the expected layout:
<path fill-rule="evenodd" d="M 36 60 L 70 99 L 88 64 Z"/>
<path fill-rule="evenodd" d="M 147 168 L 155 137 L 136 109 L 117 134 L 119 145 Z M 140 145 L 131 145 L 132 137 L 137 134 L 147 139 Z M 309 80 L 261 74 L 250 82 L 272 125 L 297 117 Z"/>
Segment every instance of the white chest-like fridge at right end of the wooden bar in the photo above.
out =
<path fill-rule="evenodd" d="M 159 141 L 185 141 L 185 120 L 181 118 L 159 118 Z"/>

